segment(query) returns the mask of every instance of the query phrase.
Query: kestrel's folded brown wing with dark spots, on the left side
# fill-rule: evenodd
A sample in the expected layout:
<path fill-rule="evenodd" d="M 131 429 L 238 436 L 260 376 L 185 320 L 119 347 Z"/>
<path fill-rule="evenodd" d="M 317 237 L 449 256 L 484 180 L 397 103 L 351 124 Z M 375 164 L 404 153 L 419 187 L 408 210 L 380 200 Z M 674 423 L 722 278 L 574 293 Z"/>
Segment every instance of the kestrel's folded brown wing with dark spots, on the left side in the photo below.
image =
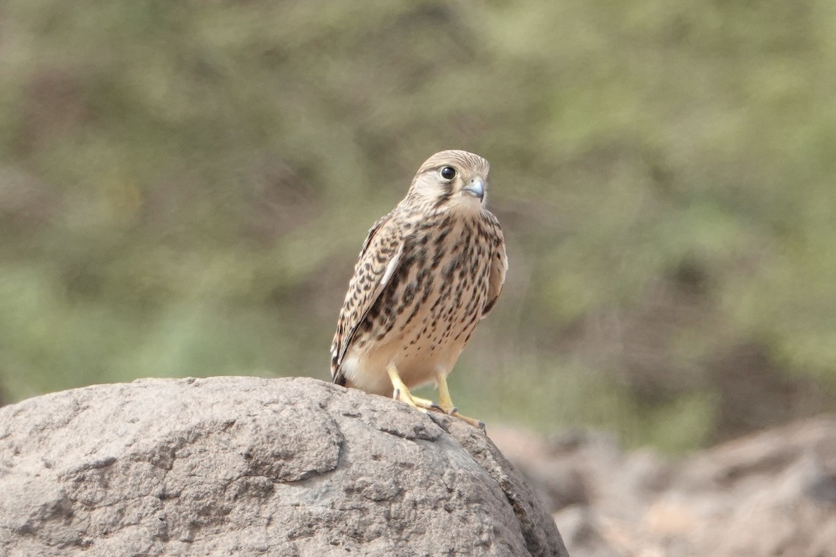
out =
<path fill-rule="evenodd" d="M 349 282 L 349 291 L 339 311 L 334 342 L 331 344 L 331 377 L 335 383 L 344 384 L 340 367 L 345 352 L 354 342 L 357 327 L 395 272 L 403 251 L 402 240 L 400 229 L 390 213 L 372 225 L 363 242 L 357 265 L 354 266 L 354 276 Z"/>

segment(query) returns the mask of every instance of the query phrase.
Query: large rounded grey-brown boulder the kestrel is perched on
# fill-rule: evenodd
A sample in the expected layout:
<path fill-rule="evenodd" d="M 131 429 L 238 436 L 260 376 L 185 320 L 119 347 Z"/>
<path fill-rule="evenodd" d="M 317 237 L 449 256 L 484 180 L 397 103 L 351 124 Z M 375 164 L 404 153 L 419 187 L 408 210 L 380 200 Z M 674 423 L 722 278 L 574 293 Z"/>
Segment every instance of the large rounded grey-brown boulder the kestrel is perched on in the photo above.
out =
<path fill-rule="evenodd" d="M 566 555 L 479 430 L 307 378 L 0 408 L 0 555 Z"/>

